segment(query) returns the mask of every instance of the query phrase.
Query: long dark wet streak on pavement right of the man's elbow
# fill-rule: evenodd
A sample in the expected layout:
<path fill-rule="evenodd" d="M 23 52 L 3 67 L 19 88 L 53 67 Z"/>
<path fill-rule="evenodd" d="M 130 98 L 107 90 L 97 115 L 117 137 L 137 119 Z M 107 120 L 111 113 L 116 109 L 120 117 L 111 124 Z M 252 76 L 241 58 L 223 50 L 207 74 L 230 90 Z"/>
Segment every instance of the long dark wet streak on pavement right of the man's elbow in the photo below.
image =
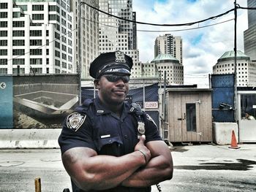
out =
<path fill-rule="evenodd" d="M 201 163 L 196 166 L 174 166 L 174 169 L 187 169 L 187 170 L 234 170 L 234 171 L 248 171 L 256 165 L 256 161 L 246 159 L 237 159 L 238 162 L 224 163 Z"/>

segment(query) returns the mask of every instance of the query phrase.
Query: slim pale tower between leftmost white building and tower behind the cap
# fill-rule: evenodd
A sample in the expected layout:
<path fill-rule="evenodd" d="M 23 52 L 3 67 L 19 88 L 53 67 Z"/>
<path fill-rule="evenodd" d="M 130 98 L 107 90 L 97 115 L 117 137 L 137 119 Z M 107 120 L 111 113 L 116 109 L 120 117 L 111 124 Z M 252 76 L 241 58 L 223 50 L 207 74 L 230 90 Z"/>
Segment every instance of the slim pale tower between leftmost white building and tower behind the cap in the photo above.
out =
<path fill-rule="evenodd" d="M 99 55 L 99 12 L 97 11 L 99 9 L 99 0 L 73 0 L 70 2 L 74 13 L 73 23 L 77 29 L 73 31 L 75 39 L 74 64 L 78 66 L 78 72 L 80 71 L 82 79 L 89 78 L 90 64 Z M 79 11 L 81 11 L 80 15 Z"/>

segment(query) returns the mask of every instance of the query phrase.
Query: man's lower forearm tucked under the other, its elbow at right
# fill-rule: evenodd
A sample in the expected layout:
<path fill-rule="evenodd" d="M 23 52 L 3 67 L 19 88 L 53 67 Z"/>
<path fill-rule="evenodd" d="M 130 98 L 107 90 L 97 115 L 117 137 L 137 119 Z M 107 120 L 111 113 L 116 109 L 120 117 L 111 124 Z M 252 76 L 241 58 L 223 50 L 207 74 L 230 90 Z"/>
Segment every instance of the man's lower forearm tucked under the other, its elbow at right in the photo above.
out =
<path fill-rule="evenodd" d="M 173 177 L 173 166 L 171 162 L 165 161 L 163 156 L 151 158 L 145 168 L 139 169 L 121 185 L 127 187 L 146 187 L 162 182 L 163 180 L 170 180 Z"/>

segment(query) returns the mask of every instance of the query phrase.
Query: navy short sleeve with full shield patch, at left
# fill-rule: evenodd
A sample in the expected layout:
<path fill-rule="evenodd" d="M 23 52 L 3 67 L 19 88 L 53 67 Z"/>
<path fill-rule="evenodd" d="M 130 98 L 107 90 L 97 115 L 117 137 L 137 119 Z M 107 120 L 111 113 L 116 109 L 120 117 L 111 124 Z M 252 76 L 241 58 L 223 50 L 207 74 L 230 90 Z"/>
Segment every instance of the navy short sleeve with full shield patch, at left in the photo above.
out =
<path fill-rule="evenodd" d="M 72 112 L 67 116 L 59 136 L 59 146 L 61 147 L 61 154 L 73 147 L 89 147 L 96 150 L 91 120 L 88 115 Z"/>

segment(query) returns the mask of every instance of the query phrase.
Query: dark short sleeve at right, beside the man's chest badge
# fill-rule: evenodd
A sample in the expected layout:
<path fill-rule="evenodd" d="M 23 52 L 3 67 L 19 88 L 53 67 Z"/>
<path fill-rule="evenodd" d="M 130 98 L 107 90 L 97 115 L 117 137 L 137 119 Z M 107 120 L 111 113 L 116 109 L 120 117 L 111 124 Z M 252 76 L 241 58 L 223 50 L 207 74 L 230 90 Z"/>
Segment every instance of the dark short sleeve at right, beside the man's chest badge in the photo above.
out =
<path fill-rule="evenodd" d="M 146 126 L 146 142 L 162 140 L 154 120 L 145 112 L 143 114 Z"/>

